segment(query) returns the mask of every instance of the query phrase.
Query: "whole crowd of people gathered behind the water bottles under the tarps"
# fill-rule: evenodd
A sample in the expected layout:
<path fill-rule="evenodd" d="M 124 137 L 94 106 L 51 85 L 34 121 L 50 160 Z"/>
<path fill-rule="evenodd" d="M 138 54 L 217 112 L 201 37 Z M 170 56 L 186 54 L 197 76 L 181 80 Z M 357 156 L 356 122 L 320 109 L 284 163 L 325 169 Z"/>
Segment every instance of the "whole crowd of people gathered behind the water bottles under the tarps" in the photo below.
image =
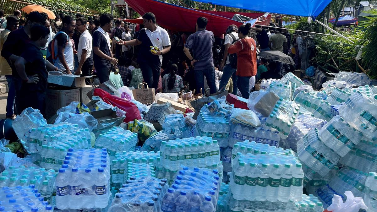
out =
<path fill-rule="evenodd" d="M 152 12 L 144 14 L 143 24 L 132 32 L 130 25 L 114 21 L 110 14 L 56 16 L 51 20 L 45 13 L 31 12 L 22 17 L 16 10 L 5 18 L 0 11 L 0 28 L 5 28 L 0 36 L 0 74 L 9 86 L 7 118 L 30 106 L 44 114 L 48 71 L 96 75 L 99 83 L 110 80 L 134 88 L 146 82 L 157 92 L 213 94 L 227 89 L 248 98 L 257 80 L 281 78 L 293 68 L 257 59 L 262 51 L 290 52 L 291 35 L 281 28 L 271 33 L 250 24 L 230 25 L 224 37 L 215 37 L 206 30 L 210 23 L 205 17 L 198 17 L 196 32 L 190 34 L 162 28 Z M 303 42 L 301 37 L 294 40 L 299 46 Z M 298 50 L 296 60 L 302 57 L 306 63 L 308 55 Z"/>

